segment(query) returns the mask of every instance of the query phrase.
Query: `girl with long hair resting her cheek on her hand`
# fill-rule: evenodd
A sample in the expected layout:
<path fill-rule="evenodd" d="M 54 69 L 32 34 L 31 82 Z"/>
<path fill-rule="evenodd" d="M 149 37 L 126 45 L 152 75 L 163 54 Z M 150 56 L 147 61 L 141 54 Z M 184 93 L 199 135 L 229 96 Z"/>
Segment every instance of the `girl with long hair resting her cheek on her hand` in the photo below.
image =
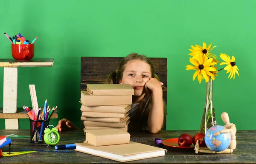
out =
<path fill-rule="evenodd" d="M 107 84 L 130 84 L 134 88 L 130 123 L 128 130 L 148 130 L 157 133 L 163 126 L 166 105 L 163 101 L 163 90 L 159 78 L 154 74 L 154 65 L 144 55 L 129 54 L 106 79 Z M 60 131 L 79 129 L 67 119 L 57 125 Z"/>

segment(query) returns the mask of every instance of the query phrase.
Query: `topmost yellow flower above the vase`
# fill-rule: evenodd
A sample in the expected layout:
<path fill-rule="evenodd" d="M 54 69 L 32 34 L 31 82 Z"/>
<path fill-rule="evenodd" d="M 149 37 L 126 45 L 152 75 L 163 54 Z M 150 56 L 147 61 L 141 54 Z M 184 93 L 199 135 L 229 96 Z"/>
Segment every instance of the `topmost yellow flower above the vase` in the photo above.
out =
<path fill-rule="evenodd" d="M 198 56 L 207 56 L 208 58 L 213 57 L 214 59 L 216 59 L 217 56 L 210 53 L 210 51 L 212 51 L 212 49 L 216 46 L 213 46 L 211 48 L 211 45 L 212 43 L 209 44 L 207 47 L 205 42 L 203 42 L 203 47 L 201 47 L 200 45 L 191 45 L 192 49 L 189 49 L 189 51 L 191 51 L 192 53 L 190 53 L 189 55 L 192 56 L 192 58 L 197 58 Z"/>

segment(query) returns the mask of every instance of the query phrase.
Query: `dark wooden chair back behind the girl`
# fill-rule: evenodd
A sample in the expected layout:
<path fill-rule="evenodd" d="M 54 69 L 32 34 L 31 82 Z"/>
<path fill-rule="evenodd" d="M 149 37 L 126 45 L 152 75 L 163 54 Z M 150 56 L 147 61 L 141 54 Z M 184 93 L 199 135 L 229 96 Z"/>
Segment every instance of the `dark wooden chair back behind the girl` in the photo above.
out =
<path fill-rule="evenodd" d="M 123 57 L 81 57 L 81 90 L 87 84 L 103 84 L 108 74 L 115 71 Z M 149 58 L 154 64 L 155 74 L 163 82 L 163 99 L 167 105 L 167 58 Z M 83 124 L 81 124 L 83 128 Z M 166 117 L 163 130 L 166 130 Z"/>

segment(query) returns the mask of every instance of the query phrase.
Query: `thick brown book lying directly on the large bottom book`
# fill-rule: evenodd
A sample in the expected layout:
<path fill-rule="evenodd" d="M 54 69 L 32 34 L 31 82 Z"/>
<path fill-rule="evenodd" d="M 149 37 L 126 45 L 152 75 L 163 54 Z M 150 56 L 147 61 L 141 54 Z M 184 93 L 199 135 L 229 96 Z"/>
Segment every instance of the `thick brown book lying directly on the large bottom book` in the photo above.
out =
<path fill-rule="evenodd" d="M 85 143 L 93 146 L 128 144 L 130 134 L 119 129 L 85 130 Z"/>

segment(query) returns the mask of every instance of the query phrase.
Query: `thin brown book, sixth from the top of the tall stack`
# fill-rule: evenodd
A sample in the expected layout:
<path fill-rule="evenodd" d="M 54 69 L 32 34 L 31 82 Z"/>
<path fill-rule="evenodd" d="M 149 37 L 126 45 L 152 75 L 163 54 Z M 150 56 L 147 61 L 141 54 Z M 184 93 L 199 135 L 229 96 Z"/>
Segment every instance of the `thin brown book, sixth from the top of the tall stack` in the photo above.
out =
<path fill-rule="evenodd" d="M 84 126 L 95 126 L 95 127 L 125 127 L 130 122 L 130 117 L 128 116 L 122 122 L 94 122 L 94 121 L 84 121 Z"/>

